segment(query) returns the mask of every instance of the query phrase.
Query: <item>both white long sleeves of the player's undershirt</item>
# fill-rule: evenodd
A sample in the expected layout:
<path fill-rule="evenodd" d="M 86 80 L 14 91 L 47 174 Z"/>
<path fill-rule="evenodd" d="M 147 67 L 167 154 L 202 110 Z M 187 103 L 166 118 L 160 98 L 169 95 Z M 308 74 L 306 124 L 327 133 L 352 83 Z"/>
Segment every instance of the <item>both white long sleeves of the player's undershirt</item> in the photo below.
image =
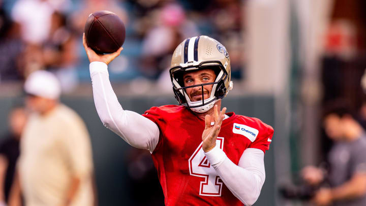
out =
<path fill-rule="evenodd" d="M 94 103 L 104 126 L 135 148 L 153 153 L 159 141 L 159 127 L 146 117 L 121 107 L 109 81 L 106 64 L 92 62 L 89 69 Z M 245 150 L 238 165 L 218 146 L 205 155 L 235 197 L 245 205 L 252 205 L 257 200 L 265 180 L 263 151 Z"/>

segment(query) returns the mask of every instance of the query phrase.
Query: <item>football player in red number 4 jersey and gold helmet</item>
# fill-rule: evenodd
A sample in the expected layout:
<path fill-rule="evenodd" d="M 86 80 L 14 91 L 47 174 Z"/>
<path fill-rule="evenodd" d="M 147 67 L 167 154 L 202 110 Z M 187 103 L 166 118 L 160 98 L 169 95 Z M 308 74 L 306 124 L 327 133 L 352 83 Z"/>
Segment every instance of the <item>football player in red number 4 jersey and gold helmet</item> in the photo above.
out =
<path fill-rule="evenodd" d="M 221 110 L 221 99 L 232 89 L 230 58 L 221 43 L 207 36 L 181 42 L 170 69 L 180 106 L 152 107 L 142 115 L 121 107 L 108 78 L 107 65 L 122 48 L 101 55 L 85 37 L 83 44 L 101 121 L 130 145 L 150 151 L 166 205 L 252 205 L 257 200 L 273 129 Z"/>

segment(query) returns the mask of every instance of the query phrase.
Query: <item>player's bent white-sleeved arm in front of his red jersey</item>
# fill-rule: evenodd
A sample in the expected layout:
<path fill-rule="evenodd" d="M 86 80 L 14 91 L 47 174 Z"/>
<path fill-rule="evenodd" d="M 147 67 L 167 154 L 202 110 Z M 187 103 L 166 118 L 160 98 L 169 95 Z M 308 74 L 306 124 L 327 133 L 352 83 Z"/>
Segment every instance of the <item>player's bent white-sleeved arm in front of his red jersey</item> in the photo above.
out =
<path fill-rule="evenodd" d="M 246 157 L 240 159 L 240 166 L 235 165 L 218 147 L 205 153 L 225 185 L 245 205 L 252 205 L 257 201 L 265 179 L 263 152 L 250 152 L 243 153 Z M 250 162 L 243 163 L 248 159 L 251 159 Z"/>

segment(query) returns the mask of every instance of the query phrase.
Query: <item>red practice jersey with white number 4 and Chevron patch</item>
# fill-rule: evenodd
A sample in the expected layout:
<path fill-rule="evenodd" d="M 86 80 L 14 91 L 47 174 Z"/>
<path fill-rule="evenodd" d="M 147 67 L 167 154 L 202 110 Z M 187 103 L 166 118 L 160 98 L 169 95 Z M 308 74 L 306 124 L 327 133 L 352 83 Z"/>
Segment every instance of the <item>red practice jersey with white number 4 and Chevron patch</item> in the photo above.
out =
<path fill-rule="evenodd" d="M 238 164 L 247 148 L 269 149 L 272 127 L 256 118 L 227 113 L 217 144 Z M 225 186 L 202 150 L 205 122 L 185 106 L 152 107 L 143 114 L 160 129 L 159 142 L 151 156 L 158 170 L 165 204 L 242 205 Z"/>

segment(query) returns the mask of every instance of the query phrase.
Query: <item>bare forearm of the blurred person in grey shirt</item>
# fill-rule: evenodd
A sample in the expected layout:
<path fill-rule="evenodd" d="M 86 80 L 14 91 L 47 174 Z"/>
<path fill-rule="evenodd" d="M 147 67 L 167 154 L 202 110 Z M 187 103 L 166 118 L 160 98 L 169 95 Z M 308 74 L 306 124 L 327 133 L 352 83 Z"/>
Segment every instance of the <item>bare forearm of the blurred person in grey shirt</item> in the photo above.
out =
<path fill-rule="evenodd" d="M 353 178 L 330 190 L 333 200 L 356 198 L 366 194 L 366 174 L 355 174 Z"/>

